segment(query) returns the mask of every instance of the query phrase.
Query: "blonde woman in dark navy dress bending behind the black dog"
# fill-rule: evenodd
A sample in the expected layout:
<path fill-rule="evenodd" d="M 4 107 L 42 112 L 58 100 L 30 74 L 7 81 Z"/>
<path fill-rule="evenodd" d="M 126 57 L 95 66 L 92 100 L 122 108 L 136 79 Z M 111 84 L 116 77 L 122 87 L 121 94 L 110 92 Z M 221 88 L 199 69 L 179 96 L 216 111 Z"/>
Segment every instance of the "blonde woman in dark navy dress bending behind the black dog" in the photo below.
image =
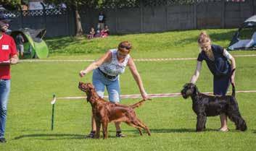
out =
<path fill-rule="evenodd" d="M 205 60 L 210 72 L 213 74 L 213 94 L 226 95 L 230 81 L 234 83 L 236 61 L 226 49 L 221 46 L 212 45 L 210 36 L 202 32 L 198 38 L 199 48 L 202 50 L 197 58 L 197 68 L 191 77 L 191 83 L 197 82 L 199 73 L 202 68 L 202 61 Z M 221 127 L 219 131 L 228 131 L 227 116 L 225 113 L 220 114 Z"/>

